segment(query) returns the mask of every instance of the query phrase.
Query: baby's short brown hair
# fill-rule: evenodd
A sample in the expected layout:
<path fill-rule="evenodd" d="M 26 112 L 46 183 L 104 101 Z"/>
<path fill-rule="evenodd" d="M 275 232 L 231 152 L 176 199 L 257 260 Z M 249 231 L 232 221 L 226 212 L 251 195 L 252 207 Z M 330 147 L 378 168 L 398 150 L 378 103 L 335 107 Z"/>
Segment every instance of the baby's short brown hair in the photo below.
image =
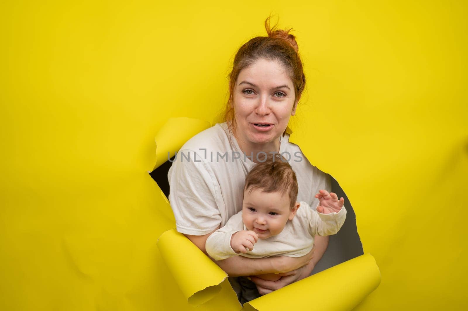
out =
<path fill-rule="evenodd" d="M 261 189 L 264 192 L 280 191 L 288 194 L 290 209 L 294 206 L 299 191 L 296 174 L 286 159 L 279 155 L 267 155 L 263 163 L 257 164 L 245 177 L 244 191 Z"/>

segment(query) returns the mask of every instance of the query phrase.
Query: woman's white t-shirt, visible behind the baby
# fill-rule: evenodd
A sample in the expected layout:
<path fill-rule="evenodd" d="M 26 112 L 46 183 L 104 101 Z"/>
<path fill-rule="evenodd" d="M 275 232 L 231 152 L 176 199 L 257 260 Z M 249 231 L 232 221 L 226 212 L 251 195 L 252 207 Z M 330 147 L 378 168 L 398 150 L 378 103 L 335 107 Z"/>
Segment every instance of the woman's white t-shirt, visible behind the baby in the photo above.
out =
<path fill-rule="evenodd" d="M 315 194 L 331 190 L 329 175 L 309 163 L 299 146 L 289 142 L 289 134 L 280 136 L 279 153 L 296 173 L 297 201 L 315 209 L 319 203 Z M 247 156 L 226 123 L 207 128 L 182 146 L 168 172 L 169 202 L 178 232 L 210 233 L 242 210 L 245 177 L 256 165 Z M 259 158 L 263 160 L 262 155 Z"/>

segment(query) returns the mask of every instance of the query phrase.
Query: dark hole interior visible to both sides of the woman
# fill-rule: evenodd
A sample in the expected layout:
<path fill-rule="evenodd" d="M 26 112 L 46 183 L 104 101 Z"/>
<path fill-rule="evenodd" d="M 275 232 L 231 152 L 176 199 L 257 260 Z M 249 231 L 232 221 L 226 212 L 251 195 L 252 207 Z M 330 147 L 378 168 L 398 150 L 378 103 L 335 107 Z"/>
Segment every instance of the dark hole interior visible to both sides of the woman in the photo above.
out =
<path fill-rule="evenodd" d="M 171 161 L 173 160 L 174 157 L 171 158 Z M 166 163 L 163 163 L 160 167 L 150 173 L 151 177 L 161 188 L 161 191 L 166 195 L 166 198 L 169 197 L 168 171 L 171 165 L 172 162 L 166 161 Z M 364 254 L 362 243 L 358 235 L 358 229 L 356 227 L 356 214 L 354 213 L 348 197 L 346 197 L 343 189 L 341 189 L 340 185 L 333 177 L 331 177 L 331 191 L 335 192 L 338 198 L 344 198 L 344 206 L 347 211 L 346 221 L 338 233 L 330 236 L 327 251 L 315 266 L 312 274 Z"/>

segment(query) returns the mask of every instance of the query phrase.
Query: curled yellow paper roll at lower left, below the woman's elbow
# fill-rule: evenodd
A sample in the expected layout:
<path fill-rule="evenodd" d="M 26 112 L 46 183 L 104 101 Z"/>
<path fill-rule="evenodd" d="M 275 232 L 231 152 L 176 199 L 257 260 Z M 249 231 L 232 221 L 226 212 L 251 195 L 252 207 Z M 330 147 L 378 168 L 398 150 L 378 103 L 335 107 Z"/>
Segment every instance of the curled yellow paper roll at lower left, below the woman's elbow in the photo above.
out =
<path fill-rule="evenodd" d="M 168 230 L 161 234 L 157 245 L 189 304 L 203 304 L 219 293 L 226 272 L 182 233 Z"/>

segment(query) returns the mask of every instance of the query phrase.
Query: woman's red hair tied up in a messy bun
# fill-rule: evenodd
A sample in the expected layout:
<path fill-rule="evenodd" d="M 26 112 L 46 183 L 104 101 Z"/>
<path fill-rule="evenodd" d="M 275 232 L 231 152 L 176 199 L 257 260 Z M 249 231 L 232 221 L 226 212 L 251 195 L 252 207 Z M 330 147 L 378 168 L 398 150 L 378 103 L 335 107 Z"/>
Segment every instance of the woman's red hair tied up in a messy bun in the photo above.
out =
<path fill-rule="evenodd" d="M 265 29 L 268 36 L 250 39 L 249 42 L 243 44 L 239 48 L 234 57 L 233 69 L 228 76 L 229 99 L 227 100 L 224 115 L 225 121 L 232 121 L 228 122 L 228 126 L 231 128 L 233 133 L 235 133 L 234 88 L 237 77 L 244 68 L 254 64 L 258 59 L 278 61 L 288 71 L 289 78 L 294 86 L 294 105 L 297 105 L 297 102 L 306 86 L 306 76 L 302 69 L 299 47 L 295 40 L 295 36 L 289 33 L 292 28 L 287 30 L 278 29 L 278 23 L 273 27 L 270 27 L 270 18 L 271 16 L 265 20 Z"/>

